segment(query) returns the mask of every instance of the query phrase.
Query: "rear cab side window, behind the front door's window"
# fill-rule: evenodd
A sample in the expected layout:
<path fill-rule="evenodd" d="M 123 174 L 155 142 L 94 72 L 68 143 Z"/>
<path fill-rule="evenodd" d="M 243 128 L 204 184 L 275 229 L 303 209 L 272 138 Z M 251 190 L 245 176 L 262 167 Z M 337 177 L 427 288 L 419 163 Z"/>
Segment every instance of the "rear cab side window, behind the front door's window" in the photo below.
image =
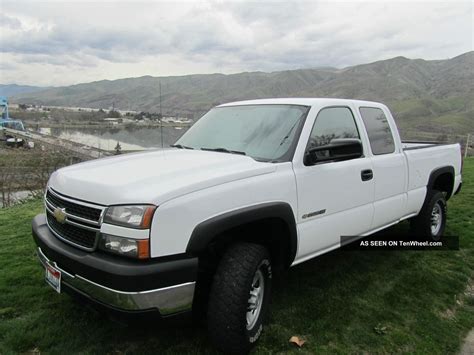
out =
<path fill-rule="evenodd" d="M 383 111 L 376 107 L 361 107 L 359 111 L 369 136 L 372 153 L 374 155 L 393 153 L 395 142 Z"/>

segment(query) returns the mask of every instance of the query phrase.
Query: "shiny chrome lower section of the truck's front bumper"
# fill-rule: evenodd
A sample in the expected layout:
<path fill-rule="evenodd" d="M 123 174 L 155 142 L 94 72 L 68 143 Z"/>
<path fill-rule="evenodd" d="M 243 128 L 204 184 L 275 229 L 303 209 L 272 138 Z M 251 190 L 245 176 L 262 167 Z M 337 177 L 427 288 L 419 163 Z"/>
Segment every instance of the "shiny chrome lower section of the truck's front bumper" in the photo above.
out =
<path fill-rule="evenodd" d="M 99 285 L 80 275 L 71 275 L 61 269 L 56 262 L 49 260 L 41 248 L 37 249 L 37 254 L 44 268 L 49 264 L 61 271 L 61 285 L 64 284 L 107 306 L 125 311 L 158 309 L 162 316 L 187 311 L 192 307 L 195 282 L 139 292 L 119 291 Z"/>

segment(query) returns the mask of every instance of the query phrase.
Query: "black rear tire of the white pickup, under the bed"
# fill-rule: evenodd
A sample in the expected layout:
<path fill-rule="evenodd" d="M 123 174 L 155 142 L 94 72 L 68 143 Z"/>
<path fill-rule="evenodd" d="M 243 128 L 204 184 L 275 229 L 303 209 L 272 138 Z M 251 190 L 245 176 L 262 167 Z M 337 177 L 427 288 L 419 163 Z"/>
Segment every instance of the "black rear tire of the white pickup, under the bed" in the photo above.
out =
<path fill-rule="evenodd" d="M 432 229 L 432 214 L 439 206 L 440 225 L 436 230 Z M 438 240 L 444 233 L 446 227 L 446 198 L 441 191 L 430 190 L 426 196 L 425 203 L 421 208 L 418 216 L 411 220 L 412 233 L 421 237 L 431 237 L 433 240 Z M 434 222 L 433 222 L 434 223 Z"/>

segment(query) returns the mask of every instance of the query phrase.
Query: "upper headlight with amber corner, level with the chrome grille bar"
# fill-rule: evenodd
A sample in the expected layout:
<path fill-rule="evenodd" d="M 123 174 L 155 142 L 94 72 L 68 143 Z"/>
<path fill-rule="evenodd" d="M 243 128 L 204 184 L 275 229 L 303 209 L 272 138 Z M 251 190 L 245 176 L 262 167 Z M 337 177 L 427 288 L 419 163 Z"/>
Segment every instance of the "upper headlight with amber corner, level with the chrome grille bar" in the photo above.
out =
<path fill-rule="evenodd" d="M 107 208 L 104 216 L 104 223 L 116 224 L 119 226 L 148 229 L 156 206 L 132 205 L 132 206 L 111 206 Z"/>

